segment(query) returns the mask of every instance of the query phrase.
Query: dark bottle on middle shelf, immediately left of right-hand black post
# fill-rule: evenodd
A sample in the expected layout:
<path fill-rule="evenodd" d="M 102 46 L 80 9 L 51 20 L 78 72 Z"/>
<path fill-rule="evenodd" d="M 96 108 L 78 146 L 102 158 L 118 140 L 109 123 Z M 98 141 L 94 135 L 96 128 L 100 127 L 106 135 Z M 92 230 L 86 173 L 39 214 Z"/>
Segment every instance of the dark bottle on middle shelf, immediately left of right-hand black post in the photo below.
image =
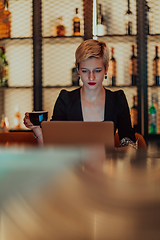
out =
<path fill-rule="evenodd" d="M 137 84 L 137 56 L 135 55 L 135 46 L 132 45 L 132 56 L 130 58 L 129 74 L 131 75 L 131 84 Z"/>

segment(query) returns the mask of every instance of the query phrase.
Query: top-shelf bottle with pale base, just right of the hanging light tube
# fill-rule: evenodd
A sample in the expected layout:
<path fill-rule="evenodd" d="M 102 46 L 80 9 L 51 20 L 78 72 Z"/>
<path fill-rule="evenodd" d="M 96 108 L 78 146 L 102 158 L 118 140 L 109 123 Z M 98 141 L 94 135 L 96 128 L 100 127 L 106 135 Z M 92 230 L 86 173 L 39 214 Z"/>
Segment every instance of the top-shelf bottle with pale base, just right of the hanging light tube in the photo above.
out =
<path fill-rule="evenodd" d="M 102 14 L 102 4 L 98 4 L 97 9 L 97 35 L 103 36 L 107 33 L 107 26 L 105 25 L 104 16 Z"/>

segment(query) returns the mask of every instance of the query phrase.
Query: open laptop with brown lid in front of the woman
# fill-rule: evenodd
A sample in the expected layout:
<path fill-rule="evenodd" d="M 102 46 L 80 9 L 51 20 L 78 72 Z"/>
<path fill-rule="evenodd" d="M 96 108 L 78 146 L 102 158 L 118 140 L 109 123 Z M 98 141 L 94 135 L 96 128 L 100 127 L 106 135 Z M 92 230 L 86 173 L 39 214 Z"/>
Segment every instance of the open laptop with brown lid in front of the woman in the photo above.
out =
<path fill-rule="evenodd" d="M 103 144 L 114 148 L 114 123 L 83 121 L 43 121 L 44 145 Z"/>

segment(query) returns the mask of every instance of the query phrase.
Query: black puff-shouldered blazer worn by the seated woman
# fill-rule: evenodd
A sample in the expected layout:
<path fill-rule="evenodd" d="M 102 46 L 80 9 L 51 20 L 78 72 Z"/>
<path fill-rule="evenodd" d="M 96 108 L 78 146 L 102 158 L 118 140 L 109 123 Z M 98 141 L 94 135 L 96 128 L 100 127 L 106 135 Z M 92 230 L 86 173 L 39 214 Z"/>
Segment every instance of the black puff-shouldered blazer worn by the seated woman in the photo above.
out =
<path fill-rule="evenodd" d="M 53 110 L 51 121 L 83 121 L 80 88 L 73 91 L 61 90 Z M 104 121 L 114 122 L 114 131 L 118 129 L 119 139 L 124 137 L 135 140 L 131 126 L 130 111 L 122 90 L 112 92 L 105 89 Z"/>

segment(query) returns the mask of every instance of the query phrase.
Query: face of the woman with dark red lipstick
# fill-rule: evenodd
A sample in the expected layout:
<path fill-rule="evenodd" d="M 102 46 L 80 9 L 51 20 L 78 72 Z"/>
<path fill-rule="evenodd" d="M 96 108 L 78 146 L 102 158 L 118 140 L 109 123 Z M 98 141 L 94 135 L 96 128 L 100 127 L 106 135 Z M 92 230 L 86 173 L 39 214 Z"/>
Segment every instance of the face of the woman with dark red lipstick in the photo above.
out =
<path fill-rule="evenodd" d="M 84 87 L 96 89 L 102 86 L 107 69 L 104 68 L 102 58 L 93 57 L 80 62 L 78 72 Z"/>

